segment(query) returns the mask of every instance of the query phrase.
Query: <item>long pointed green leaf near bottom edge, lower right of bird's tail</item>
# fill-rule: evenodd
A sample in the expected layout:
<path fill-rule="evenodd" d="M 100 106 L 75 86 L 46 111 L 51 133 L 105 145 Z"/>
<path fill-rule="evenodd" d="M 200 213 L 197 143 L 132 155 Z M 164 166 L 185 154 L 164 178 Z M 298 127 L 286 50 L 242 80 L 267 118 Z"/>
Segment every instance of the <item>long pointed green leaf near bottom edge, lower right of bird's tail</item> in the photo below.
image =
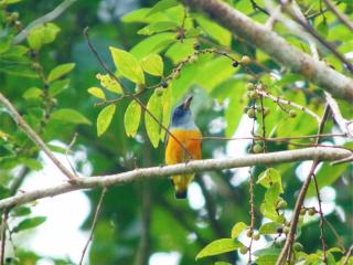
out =
<path fill-rule="evenodd" d="M 196 261 L 202 257 L 220 255 L 239 248 L 243 244 L 232 239 L 221 239 L 211 242 L 196 256 Z"/>

